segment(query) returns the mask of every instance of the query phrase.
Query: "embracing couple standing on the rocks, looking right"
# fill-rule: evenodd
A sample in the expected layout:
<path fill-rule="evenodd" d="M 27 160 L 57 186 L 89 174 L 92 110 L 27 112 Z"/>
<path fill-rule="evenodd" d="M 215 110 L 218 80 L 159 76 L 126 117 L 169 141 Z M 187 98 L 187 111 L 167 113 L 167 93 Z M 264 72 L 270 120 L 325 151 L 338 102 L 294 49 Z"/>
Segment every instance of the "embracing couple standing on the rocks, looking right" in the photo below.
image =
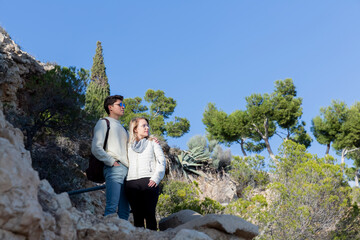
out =
<path fill-rule="evenodd" d="M 135 227 L 157 229 L 155 208 L 159 183 L 165 174 L 165 157 L 157 141 L 149 136 L 149 121 L 137 117 L 130 121 L 129 132 L 120 124 L 124 115 L 123 96 L 109 96 L 104 108 L 110 122 L 107 146 L 103 149 L 106 121 L 100 119 L 94 128 L 91 151 L 104 162 L 106 183 L 105 216 L 117 213 L 128 220 L 129 204 Z"/>

